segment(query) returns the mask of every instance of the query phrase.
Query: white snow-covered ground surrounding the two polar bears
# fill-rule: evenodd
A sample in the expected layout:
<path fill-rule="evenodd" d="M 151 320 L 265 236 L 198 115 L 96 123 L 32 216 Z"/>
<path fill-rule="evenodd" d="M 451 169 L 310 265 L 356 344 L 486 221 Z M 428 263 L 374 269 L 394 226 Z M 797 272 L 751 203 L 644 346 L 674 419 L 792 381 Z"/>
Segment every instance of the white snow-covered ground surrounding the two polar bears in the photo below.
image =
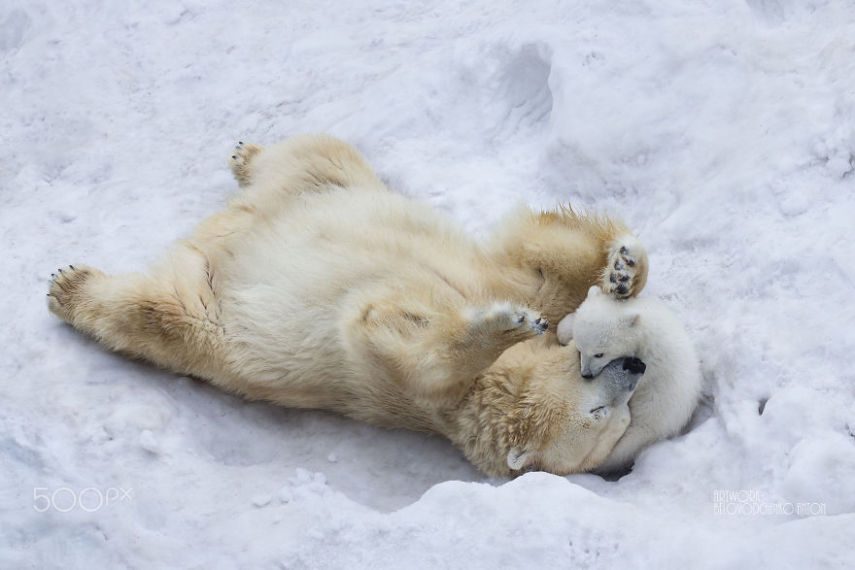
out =
<path fill-rule="evenodd" d="M 0 567 L 853 567 L 849 0 L 0 4 Z M 246 403 L 46 310 L 330 132 L 483 234 L 623 216 L 703 358 L 629 475 L 480 475 L 438 438 Z M 667 565 L 666 565 L 667 563 Z"/>

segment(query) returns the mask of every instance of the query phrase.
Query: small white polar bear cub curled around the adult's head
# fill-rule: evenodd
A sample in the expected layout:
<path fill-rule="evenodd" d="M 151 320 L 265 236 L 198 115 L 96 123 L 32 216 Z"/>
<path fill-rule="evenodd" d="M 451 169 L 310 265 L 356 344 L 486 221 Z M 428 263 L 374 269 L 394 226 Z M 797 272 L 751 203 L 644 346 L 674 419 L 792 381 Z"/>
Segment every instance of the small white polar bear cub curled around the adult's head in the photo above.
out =
<path fill-rule="evenodd" d="M 662 302 L 618 300 L 591 287 L 576 312 L 559 323 L 557 334 L 561 344 L 579 351 L 583 378 L 593 378 L 622 356 L 647 365 L 629 401 L 629 427 L 598 471 L 627 467 L 642 449 L 686 425 L 700 397 L 700 363 L 685 329 Z"/>

